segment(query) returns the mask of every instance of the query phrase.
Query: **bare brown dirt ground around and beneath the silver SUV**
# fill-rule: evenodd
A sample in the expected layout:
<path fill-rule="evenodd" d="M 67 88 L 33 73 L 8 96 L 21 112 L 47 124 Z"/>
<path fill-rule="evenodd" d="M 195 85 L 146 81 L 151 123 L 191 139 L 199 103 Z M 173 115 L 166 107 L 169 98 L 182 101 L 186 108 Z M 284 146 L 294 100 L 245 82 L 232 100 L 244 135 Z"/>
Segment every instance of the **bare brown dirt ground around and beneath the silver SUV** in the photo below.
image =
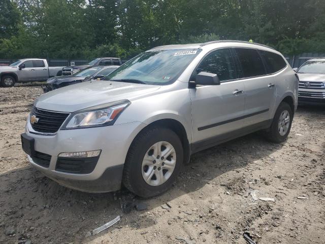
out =
<path fill-rule="evenodd" d="M 255 133 L 193 155 L 170 191 L 140 199 L 70 190 L 28 164 L 20 133 L 41 94 L 0 88 L 0 243 L 246 243 L 244 232 L 256 243 L 325 243 L 325 108 L 299 108 L 285 143 Z M 147 209 L 121 208 L 133 205 Z"/>

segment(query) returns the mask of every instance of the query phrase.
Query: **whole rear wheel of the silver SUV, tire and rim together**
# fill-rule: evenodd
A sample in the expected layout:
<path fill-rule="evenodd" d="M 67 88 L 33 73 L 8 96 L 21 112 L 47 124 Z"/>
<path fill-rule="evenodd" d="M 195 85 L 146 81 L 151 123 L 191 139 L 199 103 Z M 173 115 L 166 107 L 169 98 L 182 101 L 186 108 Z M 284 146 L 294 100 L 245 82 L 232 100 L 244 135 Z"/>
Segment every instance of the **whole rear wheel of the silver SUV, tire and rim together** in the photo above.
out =
<path fill-rule="evenodd" d="M 287 123 L 283 121 L 283 116 L 287 114 L 284 120 L 287 120 Z M 280 120 L 281 116 L 281 120 Z M 289 106 L 289 104 L 282 102 L 280 103 L 278 109 L 275 112 L 272 125 L 269 130 L 266 132 L 267 138 L 275 143 L 283 142 L 287 139 L 288 134 L 290 133 L 292 121 L 294 118 L 294 113 Z M 281 127 L 283 130 L 281 130 Z"/>

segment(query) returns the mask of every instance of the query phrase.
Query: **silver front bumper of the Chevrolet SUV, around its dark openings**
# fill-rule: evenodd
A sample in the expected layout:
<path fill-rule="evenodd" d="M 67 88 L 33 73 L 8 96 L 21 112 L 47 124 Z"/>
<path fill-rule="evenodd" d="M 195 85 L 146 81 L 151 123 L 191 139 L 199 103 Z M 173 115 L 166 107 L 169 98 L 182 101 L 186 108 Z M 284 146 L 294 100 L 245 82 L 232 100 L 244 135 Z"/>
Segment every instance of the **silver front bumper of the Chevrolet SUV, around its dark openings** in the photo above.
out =
<path fill-rule="evenodd" d="M 28 156 L 30 164 L 60 185 L 85 192 L 110 192 L 120 189 L 127 150 L 145 124 L 133 122 L 98 128 L 59 130 L 54 135 L 33 132 L 29 121 L 26 135 L 34 138 L 34 149 L 50 156 L 44 166 Z M 101 149 L 101 155 L 90 173 L 68 173 L 57 169 L 58 155 Z"/>

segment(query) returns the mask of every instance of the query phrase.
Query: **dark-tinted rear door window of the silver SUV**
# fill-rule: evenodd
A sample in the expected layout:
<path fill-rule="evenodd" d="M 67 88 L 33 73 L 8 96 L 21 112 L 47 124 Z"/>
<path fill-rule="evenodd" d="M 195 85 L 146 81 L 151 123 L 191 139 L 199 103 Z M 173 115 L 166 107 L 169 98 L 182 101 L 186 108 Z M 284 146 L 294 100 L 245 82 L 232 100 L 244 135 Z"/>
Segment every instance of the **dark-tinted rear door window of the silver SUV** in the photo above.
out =
<path fill-rule="evenodd" d="M 235 48 L 235 50 L 245 78 L 266 74 L 262 58 L 255 49 Z"/>

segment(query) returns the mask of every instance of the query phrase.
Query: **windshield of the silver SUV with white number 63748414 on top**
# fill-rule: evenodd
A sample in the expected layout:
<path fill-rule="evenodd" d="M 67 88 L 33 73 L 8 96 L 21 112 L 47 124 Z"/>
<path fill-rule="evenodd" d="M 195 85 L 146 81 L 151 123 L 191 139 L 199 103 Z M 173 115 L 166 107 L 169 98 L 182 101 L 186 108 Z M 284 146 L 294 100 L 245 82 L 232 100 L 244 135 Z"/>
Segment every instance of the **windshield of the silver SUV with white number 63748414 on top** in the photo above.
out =
<path fill-rule="evenodd" d="M 148 51 L 129 60 L 104 80 L 164 85 L 174 82 L 199 49 Z"/>

